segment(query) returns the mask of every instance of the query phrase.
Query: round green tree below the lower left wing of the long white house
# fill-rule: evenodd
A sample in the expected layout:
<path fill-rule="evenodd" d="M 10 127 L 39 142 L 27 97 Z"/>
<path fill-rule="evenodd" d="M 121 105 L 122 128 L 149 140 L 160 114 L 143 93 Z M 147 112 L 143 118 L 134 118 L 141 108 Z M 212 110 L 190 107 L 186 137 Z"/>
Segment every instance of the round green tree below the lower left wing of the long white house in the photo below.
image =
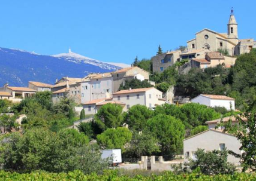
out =
<path fill-rule="evenodd" d="M 103 131 L 107 128 L 117 128 L 124 121 L 122 106 L 107 103 L 95 114 L 94 119 L 98 127 Z"/>

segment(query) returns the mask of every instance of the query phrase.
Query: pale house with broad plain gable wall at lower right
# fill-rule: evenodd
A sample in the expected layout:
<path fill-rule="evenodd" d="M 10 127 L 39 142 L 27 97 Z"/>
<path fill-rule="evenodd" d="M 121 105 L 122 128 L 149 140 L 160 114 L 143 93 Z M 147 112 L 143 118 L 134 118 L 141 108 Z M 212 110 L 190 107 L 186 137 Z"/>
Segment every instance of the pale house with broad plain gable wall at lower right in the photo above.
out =
<path fill-rule="evenodd" d="M 242 154 L 239 150 L 241 143 L 237 138 L 231 134 L 223 133 L 223 130 L 215 130 L 210 128 L 194 136 L 183 140 L 183 152 L 185 161 L 188 159 L 195 159 L 195 152 L 198 148 L 204 151 L 223 150 L 227 148 L 236 154 Z M 233 155 L 228 155 L 228 162 L 238 165 L 239 158 Z"/>

